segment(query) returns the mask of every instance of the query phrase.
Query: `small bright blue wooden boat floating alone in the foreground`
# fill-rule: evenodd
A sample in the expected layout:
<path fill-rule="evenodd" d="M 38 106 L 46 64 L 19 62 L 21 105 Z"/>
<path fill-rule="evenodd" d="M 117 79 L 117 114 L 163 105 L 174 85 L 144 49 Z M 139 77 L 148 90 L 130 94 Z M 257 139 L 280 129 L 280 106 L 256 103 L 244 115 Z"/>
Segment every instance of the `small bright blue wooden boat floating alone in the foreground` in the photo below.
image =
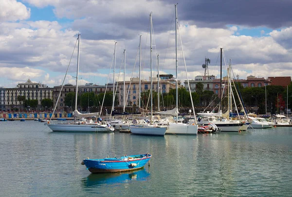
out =
<path fill-rule="evenodd" d="M 91 173 L 125 172 L 143 168 L 152 157 L 151 154 L 125 155 L 121 158 L 84 159 L 81 164 L 86 165 Z"/>

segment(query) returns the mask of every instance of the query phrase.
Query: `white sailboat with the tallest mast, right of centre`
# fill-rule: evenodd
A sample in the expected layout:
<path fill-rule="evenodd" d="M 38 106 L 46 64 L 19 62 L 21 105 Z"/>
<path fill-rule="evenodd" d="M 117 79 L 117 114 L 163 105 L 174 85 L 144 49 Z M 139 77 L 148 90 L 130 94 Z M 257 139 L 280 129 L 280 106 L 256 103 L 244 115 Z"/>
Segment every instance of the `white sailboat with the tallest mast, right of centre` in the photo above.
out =
<path fill-rule="evenodd" d="M 176 108 L 175 108 L 175 115 L 176 115 L 176 122 L 169 123 L 168 129 L 166 131 L 166 134 L 189 134 L 189 135 L 197 135 L 198 134 L 198 125 L 197 124 L 185 124 L 183 122 L 178 122 L 178 54 L 177 54 L 177 29 L 178 29 L 178 16 L 177 16 L 177 4 L 175 6 L 175 64 L 176 64 Z M 158 76 L 159 78 L 159 76 Z M 159 91 L 159 90 L 158 90 Z M 190 91 L 190 88 L 189 88 Z M 190 95 L 192 106 L 193 106 L 193 100 L 192 96 Z M 194 107 L 193 107 L 194 109 Z M 194 115 L 195 111 L 193 110 Z"/>

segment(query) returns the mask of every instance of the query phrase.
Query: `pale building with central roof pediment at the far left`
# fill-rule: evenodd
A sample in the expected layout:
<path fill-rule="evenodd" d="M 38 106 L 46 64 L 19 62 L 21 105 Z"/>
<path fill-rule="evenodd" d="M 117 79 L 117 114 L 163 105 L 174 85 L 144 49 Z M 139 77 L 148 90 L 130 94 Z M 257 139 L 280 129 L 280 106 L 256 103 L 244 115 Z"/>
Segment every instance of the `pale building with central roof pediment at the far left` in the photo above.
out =
<path fill-rule="evenodd" d="M 2 92 L 3 91 L 3 92 Z M 41 100 L 42 99 L 52 99 L 53 89 L 48 87 L 46 84 L 41 84 L 40 82 L 32 82 L 28 79 L 24 83 L 18 83 L 15 88 L 5 88 L 1 89 L 1 103 L 3 102 L 4 110 L 9 111 L 11 109 L 18 108 L 19 110 L 28 110 L 23 108 L 22 101 L 18 101 L 18 96 L 25 96 L 25 99 L 37 99 L 38 105 L 37 110 L 41 109 Z"/>

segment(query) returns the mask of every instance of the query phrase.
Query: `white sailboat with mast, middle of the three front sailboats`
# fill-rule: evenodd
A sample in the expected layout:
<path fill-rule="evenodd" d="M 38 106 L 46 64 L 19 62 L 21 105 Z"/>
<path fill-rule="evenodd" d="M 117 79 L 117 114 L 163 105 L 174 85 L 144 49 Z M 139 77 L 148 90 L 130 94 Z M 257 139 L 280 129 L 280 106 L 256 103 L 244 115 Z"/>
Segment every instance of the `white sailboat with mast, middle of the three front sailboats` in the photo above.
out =
<path fill-rule="evenodd" d="M 153 91 L 153 82 L 152 82 L 152 13 L 150 13 L 150 72 L 151 72 L 151 84 L 150 84 L 150 97 L 151 97 L 151 124 L 149 125 L 131 125 L 130 131 L 132 134 L 139 135 L 158 135 L 164 136 L 167 127 L 160 127 L 158 125 L 153 125 L 153 105 L 152 105 L 152 91 Z"/>

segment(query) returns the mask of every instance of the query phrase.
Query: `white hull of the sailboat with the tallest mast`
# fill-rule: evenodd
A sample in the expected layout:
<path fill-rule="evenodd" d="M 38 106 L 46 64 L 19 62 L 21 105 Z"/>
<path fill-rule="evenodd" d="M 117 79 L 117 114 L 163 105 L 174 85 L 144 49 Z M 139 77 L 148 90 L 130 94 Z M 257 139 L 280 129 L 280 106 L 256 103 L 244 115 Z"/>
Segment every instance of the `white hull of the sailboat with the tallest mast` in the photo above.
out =
<path fill-rule="evenodd" d="M 168 129 L 165 134 L 178 134 L 178 135 L 197 135 L 198 125 L 188 125 L 184 123 L 169 123 Z"/>

